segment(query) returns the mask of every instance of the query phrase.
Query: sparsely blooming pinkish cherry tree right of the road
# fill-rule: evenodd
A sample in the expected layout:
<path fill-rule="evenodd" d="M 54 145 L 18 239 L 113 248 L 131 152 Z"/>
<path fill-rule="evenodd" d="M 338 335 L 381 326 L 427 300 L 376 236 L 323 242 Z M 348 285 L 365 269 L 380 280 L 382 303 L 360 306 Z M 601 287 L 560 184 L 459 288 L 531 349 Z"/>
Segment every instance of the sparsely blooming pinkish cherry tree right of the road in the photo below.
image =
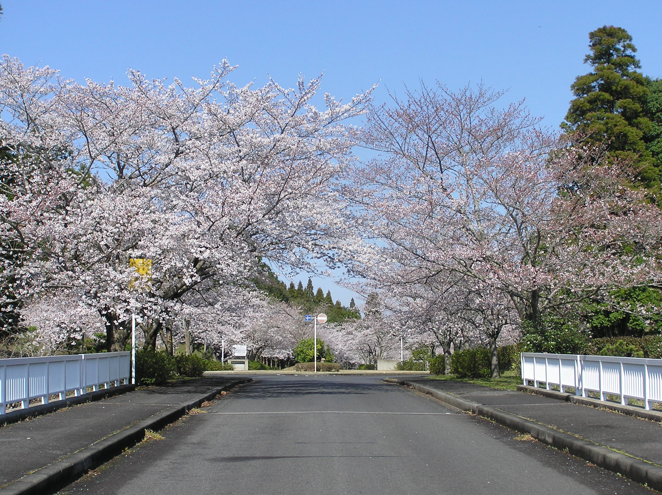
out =
<path fill-rule="evenodd" d="M 537 326 L 614 287 L 659 285 L 662 217 L 624 187 L 627 167 L 559 140 L 522 103 L 498 107 L 500 96 L 422 85 L 373 107 L 363 139 L 378 156 L 343 191 L 363 238 L 347 244 L 351 273 L 440 293 L 455 277 L 493 341 L 505 321 Z"/>

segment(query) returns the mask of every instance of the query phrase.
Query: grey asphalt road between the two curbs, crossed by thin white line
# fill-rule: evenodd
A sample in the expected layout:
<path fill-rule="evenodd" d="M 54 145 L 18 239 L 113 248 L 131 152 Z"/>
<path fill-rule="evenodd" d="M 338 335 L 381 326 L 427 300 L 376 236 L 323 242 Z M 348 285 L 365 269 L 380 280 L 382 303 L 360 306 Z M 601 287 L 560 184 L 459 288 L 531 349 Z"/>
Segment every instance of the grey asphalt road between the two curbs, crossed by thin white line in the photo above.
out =
<path fill-rule="evenodd" d="M 652 494 L 381 377 L 260 377 L 61 494 Z"/>

